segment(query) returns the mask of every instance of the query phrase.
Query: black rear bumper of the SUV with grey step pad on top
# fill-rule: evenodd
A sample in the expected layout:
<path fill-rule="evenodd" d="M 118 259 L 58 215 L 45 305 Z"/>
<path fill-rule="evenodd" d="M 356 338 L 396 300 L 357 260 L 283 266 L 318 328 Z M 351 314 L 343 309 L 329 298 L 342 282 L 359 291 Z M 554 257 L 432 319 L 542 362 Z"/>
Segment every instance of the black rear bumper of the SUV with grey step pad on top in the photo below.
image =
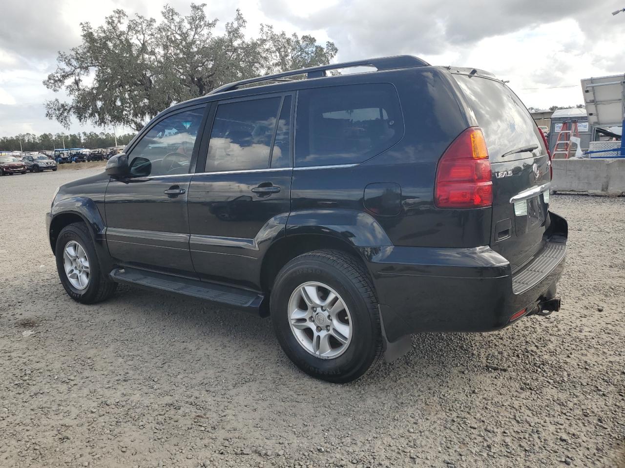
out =
<path fill-rule="evenodd" d="M 567 223 L 549 213 L 544 248 L 512 275 L 488 246 L 363 249 L 389 342 L 423 331 L 492 331 L 554 298 L 566 258 Z"/>

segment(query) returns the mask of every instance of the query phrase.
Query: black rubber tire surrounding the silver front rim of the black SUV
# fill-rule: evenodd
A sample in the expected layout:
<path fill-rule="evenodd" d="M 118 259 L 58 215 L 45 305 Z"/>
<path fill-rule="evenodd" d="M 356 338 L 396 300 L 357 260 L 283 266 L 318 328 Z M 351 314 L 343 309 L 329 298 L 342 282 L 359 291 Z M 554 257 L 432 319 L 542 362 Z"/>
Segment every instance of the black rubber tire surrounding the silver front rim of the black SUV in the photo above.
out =
<path fill-rule="evenodd" d="M 76 287 L 65 270 L 64 252 L 66 246 L 71 242 L 77 243 L 84 250 L 88 259 L 89 277 L 84 288 Z M 63 283 L 68 296 L 74 301 L 83 304 L 95 304 L 111 297 L 117 289 L 117 283 L 103 277 L 101 273 L 99 258 L 85 223 L 72 223 L 64 227 L 56 240 L 54 253 L 56 269 L 59 278 L 61 278 L 61 283 Z"/>

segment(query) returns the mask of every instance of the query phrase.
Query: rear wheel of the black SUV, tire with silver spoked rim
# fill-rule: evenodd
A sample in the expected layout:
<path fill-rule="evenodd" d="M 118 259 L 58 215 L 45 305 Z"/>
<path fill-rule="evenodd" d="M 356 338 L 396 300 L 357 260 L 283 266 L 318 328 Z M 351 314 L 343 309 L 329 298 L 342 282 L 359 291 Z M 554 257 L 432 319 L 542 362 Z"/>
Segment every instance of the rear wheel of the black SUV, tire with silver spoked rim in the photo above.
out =
<path fill-rule="evenodd" d="M 327 338 L 337 345 L 327 353 L 339 353 L 337 356 L 321 358 L 318 354 L 321 345 L 317 345 L 317 354 L 313 353 L 314 345 L 312 351 L 310 349 L 315 337 L 314 329 L 318 334 L 322 334 L 325 333 L 323 328 L 328 326 L 326 329 L 336 332 L 333 324 L 339 317 L 335 316 L 332 321 L 328 314 L 329 321 L 323 323 L 324 318 L 321 317 L 317 322 L 317 316 L 323 316 L 329 310 L 319 313 L 320 308 L 317 307 L 315 313 L 309 307 L 308 312 L 305 312 L 303 309 L 308 304 L 302 302 L 303 295 L 299 300 L 299 306 L 294 306 L 299 297 L 297 291 L 301 291 L 301 286 L 306 283 L 312 285 L 307 287 L 317 288 L 317 292 L 321 291 L 317 294 L 317 299 L 321 298 L 321 301 L 324 301 L 329 297 L 323 296 L 323 291 L 327 291 L 328 295 L 336 293 L 338 296 L 336 303 L 340 300 L 345 306 L 342 320 L 345 316 L 349 318 L 351 330 L 347 343 L 343 343 L 344 348 L 341 348 L 341 342 L 334 339 L 336 333 L 332 338 Z M 272 326 L 284 353 L 299 369 L 312 377 L 332 383 L 347 383 L 360 378 L 381 361 L 382 333 L 376 295 L 366 269 L 351 255 L 338 250 L 316 250 L 289 261 L 274 281 L 270 309 Z M 297 314 L 310 315 L 306 319 L 292 320 L 292 310 L 297 310 Z M 299 326 L 311 328 L 309 330 L 303 328 L 302 334 L 299 327 L 291 326 L 291 322 L 296 321 Z M 296 333 L 299 338 L 296 337 Z M 327 349 L 327 346 L 324 349 Z"/>

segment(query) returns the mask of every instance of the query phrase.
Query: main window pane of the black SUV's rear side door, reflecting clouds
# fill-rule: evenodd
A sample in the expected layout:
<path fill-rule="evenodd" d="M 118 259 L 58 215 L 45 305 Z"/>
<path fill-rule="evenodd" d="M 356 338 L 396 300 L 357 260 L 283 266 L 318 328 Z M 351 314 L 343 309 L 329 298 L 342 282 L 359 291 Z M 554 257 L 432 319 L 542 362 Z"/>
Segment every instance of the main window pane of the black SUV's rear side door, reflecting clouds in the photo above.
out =
<path fill-rule="evenodd" d="M 206 171 L 265 169 L 281 97 L 219 104 Z"/>

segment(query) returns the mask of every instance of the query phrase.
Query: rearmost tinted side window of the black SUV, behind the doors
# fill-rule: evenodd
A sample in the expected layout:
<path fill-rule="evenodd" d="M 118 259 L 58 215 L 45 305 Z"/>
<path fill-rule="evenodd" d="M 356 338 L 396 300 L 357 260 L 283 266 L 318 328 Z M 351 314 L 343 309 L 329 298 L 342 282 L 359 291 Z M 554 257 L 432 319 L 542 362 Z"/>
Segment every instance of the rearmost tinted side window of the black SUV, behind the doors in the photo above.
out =
<path fill-rule="evenodd" d="M 360 163 L 404 135 L 399 99 L 391 84 L 301 90 L 296 125 L 297 167 Z"/>

